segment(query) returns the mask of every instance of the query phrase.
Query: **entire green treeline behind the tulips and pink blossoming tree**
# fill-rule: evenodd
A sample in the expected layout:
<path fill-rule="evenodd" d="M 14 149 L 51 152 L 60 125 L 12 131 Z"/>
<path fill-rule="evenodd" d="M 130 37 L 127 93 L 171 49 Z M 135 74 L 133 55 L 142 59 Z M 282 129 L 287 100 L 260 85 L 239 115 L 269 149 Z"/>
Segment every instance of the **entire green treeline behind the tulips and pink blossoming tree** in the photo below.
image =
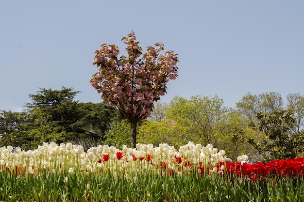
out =
<path fill-rule="evenodd" d="M 29 150 L 43 142 L 72 142 L 85 149 L 99 144 L 130 146 L 130 124 L 106 103 L 81 103 L 72 88 L 40 89 L 22 112 L 0 110 L 0 147 Z M 304 96 L 248 93 L 235 108 L 224 107 L 217 95 L 174 97 L 155 103 L 148 120 L 137 127 L 137 142 L 177 149 L 188 141 L 211 143 L 236 160 L 246 154 L 252 162 L 303 157 Z"/>

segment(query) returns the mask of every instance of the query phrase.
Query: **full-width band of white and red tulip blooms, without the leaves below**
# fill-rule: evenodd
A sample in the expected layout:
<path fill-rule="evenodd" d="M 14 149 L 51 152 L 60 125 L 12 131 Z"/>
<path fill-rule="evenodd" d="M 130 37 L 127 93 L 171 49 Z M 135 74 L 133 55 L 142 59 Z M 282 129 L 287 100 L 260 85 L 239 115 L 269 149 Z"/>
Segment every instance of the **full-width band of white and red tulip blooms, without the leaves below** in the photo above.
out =
<path fill-rule="evenodd" d="M 304 158 L 270 161 L 266 164 L 248 163 L 248 156 L 237 158 L 238 162 L 226 162 L 225 151 L 211 144 L 188 144 L 178 150 L 168 144 L 153 147 L 152 144 L 137 144 L 135 148 L 125 145 L 122 150 L 114 146 L 98 146 L 86 152 L 81 145 L 51 142 L 43 143 L 34 151 L 21 151 L 12 146 L 0 148 L 0 171 L 15 174 L 34 174 L 40 171 L 75 171 L 134 173 L 152 172 L 181 175 L 187 172 L 244 177 L 253 181 L 267 176 L 302 176 Z"/>

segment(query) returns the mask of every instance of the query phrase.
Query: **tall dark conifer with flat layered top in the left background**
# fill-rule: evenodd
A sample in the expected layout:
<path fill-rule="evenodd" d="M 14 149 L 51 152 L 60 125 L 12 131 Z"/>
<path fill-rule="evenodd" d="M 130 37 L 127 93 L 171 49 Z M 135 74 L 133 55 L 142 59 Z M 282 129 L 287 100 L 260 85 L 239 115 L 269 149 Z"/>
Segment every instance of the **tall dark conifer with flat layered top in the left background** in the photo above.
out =
<path fill-rule="evenodd" d="M 76 143 L 75 138 L 78 134 L 71 128 L 71 124 L 78 120 L 78 101 L 74 101 L 74 97 L 79 92 L 74 92 L 72 88 L 65 87 L 62 87 L 61 90 L 39 89 L 40 91 L 36 94 L 29 95 L 32 102 L 25 105 L 29 116 L 32 118 L 32 128 L 29 130 L 32 144 L 39 143 L 34 139 L 43 140 L 47 136 L 61 137 L 47 138 L 46 141 L 56 140 L 56 143 L 65 141 Z M 44 130 L 39 128 L 44 128 Z M 41 137 L 39 138 L 39 136 Z"/>

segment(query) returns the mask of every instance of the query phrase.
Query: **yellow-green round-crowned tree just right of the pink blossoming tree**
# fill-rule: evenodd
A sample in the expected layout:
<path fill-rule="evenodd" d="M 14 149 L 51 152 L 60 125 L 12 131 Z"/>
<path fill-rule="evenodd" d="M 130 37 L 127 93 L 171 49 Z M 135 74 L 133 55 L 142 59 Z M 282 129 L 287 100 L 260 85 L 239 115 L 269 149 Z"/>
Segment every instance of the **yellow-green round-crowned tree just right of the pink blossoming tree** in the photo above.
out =
<path fill-rule="evenodd" d="M 188 127 L 189 141 L 217 146 L 217 124 L 227 111 L 222 105 L 223 101 L 217 95 L 192 96 L 190 100 L 174 97 L 170 101 L 167 117 Z"/>

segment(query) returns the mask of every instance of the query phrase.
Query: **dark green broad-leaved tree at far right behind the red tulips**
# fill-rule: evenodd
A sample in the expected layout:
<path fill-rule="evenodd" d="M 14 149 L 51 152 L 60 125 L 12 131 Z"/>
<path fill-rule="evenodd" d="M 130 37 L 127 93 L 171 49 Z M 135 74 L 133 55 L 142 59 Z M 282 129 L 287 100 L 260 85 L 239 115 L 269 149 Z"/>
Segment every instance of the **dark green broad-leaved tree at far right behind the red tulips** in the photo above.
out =
<path fill-rule="evenodd" d="M 253 125 L 257 133 L 264 133 L 261 140 L 250 142 L 263 153 L 265 160 L 295 158 L 303 150 L 303 133 L 292 133 L 295 125 L 293 113 L 290 110 L 256 113 L 257 124 Z"/>

